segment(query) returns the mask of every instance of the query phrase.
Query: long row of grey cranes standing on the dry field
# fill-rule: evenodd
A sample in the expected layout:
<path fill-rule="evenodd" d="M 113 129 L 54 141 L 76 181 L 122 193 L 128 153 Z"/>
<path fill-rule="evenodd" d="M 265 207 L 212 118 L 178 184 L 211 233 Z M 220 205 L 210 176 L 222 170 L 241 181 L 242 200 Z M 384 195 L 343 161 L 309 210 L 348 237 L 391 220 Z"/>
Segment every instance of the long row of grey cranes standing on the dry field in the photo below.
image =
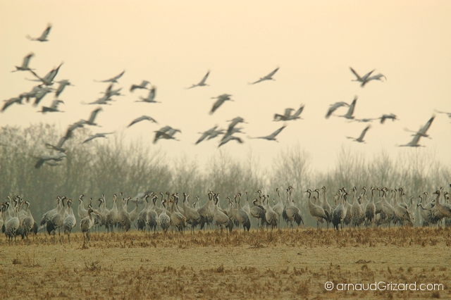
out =
<path fill-rule="evenodd" d="M 435 199 L 428 199 L 428 192 L 424 192 L 418 198 L 421 199 L 414 206 L 414 196 L 410 196 L 409 201 L 404 200 L 404 190 L 387 189 L 371 187 L 370 194 L 367 195 L 367 188 L 362 188 L 363 192 L 357 196 L 357 188 L 353 187 L 350 193 L 343 187 L 333 196 L 333 205 L 330 205 L 326 187 L 320 189 L 307 189 L 305 193 L 308 196 L 309 213 L 316 218 L 317 227 L 320 223 L 326 221 L 327 228 L 330 224 L 336 230 L 343 229 L 344 225 L 350 227 L 375 227 L 391 225 L 410 225 L 412 226 L 412 213 L 414 209 L 420 210 L 424 226 L 440 225 L 444 221 L 446 226 L 451 225 L 451 205 L 448 203 L 451 197 L 450 191 L 446 192 L 443 188 L 433 192 Z M 257 230 L 271 231 L 280 228 L 280 221 L 285 221 L 285 227 L 294 227 L 293 222 L 298 226 L 304 224 L 301 210 L 295 204 L 292 198 L 293 188 L 290 186 L 285 190 L 285 195 L 280 195 L 280 190 L 276 189 L 276 199 L 264 194 L 261 190 L 257 191 L 258 197 L 252 199 L 252 206 L 249 204 L 249 194 L 237 193 L 235 196 L 227 196 L 227 208 L 221 208 L 219 193 L 208 192 L 204 204 L 200 203 L 199 196 L 196 201 L 190 203 L 190 195 L 183 193 L 183 202 L 180 206 L 178 193 L 160 192 L 155 194 L 120 197 L 113 195 L 113 204 L 111 208 L 106 207 L 106 197 L 102 194 L 98 199 L 99 204 L 94 208 L 92 198 L 85 207 L 81 194 L 78 198 L 78 220 L 80 231 L 85 242 L 89 242 L 89 232 L 104 226 L 107 233 L 111 234 L 117 227 L 123 233 L 128 232 L 132 225 L 137 230 L 154 233 L 157 229 L 161 230 L 166 236 L 169 229 L 182 234 L 185 228 L 190 225 L 190 230 L 194 234 L 194 229 L 205 230 L 206 227 L 216 225 L 216 229 L 228 230 L 231 232 L 234 227 L 242 227 L 244 232 L 249 232 L 251 227 L 251 217 L 257 220 Z M 388 196 L 390 199 L 388 199 Z M 351 199 L 350 199 L 351 198 Z M 368 199 L 369 198 L 369 199 Z M 66 196 L 56 197 L 56 207 L 42 215 L 40 226 L 45 228 L 49 235 L 54 235 L 56 243 L 56 231 L 60 243 L 62 243 L 61 230 L 68 235 L 70 243 L 70 232 L 77 225 L 77 218 L 72 208 L 72 200 Z M 130 204 L 130 201 L 132 204 Z M 144 201 L 144 208 L 139 209 L 140 201 Z M 244 202 L 244 204 L 242 204 Z M 128 206 L 132 210 L 128 211 Z M 6 234 L 8 242 L 12 244 L 13 239 L 21 235 L 27 239 L 28 235 L 37 235 L 38 225 L 30 212 L 30 202 L 23 201 L 20 196 L 14 196 L 12 199 L 8 196 L 8 201 L 1 205 L 1 227 Z"/>

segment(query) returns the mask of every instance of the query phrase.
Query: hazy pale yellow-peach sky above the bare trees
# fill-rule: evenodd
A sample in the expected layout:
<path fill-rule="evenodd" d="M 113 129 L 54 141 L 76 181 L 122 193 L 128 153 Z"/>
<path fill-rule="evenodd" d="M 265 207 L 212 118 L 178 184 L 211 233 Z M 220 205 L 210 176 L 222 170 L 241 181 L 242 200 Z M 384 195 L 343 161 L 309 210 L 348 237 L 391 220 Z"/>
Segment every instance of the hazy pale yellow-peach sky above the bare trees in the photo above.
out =
<path fill-rule="evenodd" d="M 421 139 L 427 148 L 410 149 L 404 127 L 418 130 L 434 109 L 451 112 L 451 1 L 1 1 L 0 97 L 29 92 L 35 82 L 29 72 L 16 72 L 30 52 L 30 67 L 46 75 L 61 62 L 56 80 L 75 85 L 61 94 L 66 113 L 36 113 L 30 104 L 13 105 L 0 114 L 0 126 L 52 123 L 61 129 L 88 118 L 97 106 L 106 80 L 125 70 L 111 106 L 102 106 L 94 132 L 123 131 L 130 139 L 152 144 L 154 130 L 180 128 L 180 142 L 161 140 L 156 146 L 169 158 L 186 154 L 204 163 L 218 154 L 218 139 L 194 146 L 199 135 L 237 115 L 245 118 L 244 144 L 229 142 L 221 149 L 234 156 L 252 154 L 270 165 L 281 149 L 299 143 L 311 154 L 314 168 L 333 168 L 342 146 L 369 157 L 382 150 L 394 158 L 412 151 L 435 153 L 451 162 L 451 118 L 438 114 Z M 49 42 L 31 42 L 47 24 Z M 350 66 L 364 75 L 370 70 L 387 77 L 366 87 L 352 82 Z M 280 67 L 276 81 L 248 85 Z M 207 70 L 209 87 L 185 89 Z M 147 92 L 128 92 L 130 85 L 149 80 L 161 104 L 135 103 Z M 232 94 L 209 115 L 212 96 Z M 373 121 L 366 144 L 352 142 L 368 123 L 324 118 L 336 101 L 359 96 L 354 115 L 378 118 L 395 113 L 400 119 L 384 125 Z M 49 106 L 54 94 L 41 104 Z M 283 125 L 274 113 L 305 104 L 302 118 L 288 122 L 279 142 L 247 139 L 269 135 Z M 335 114 L 346 113 L 340 108 Z M 134 118 L 150 115 L 159 125 Z M 44 142 L 47 141 L 43 141 Z"/>

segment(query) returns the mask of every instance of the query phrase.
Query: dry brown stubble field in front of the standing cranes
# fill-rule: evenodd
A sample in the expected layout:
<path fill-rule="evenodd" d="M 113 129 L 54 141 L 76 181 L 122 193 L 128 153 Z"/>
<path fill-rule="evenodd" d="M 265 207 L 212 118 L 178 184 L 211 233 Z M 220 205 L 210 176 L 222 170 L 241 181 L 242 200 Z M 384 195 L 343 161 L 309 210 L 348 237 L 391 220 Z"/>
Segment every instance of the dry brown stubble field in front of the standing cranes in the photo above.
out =
<path fill-rule="evenodd" d="M 0 242 L 1 299 L 450 299 L 451 230 L 402 228 L 38 234 Z M 326 291 L 345 283 L 443 284 L 438 291 Z"/>

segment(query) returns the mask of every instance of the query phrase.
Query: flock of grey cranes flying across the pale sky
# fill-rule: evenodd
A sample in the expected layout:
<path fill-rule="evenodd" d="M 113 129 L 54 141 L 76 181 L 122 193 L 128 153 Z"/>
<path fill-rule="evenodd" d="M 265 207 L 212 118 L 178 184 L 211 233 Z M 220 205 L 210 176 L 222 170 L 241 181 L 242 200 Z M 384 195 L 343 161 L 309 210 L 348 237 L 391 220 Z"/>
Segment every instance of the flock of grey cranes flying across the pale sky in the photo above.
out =
<path fill-rule="evenodd" d="M 27 35 L 27 38 L 32 41 L 47 42 L 47 41 L 49 41 L 47 39 L 47 37 L 49 36 L 50 30 L 51 30 L 51 25 L 48 25 L 47 29 L 44 30 L 44 32 L 42 33 L 42 35 L 40 37 L 33 38 L 33 37 L 30 37 L 29 35 Z M 41 77 L 35 72 L 34 69 L 30 68 L 30 66 L 29 66 L 30 60 L 33 56 L 34 56 L 34 54 L 32 54 L 32 53 L 25 56 L 25 58 L 23 58 L 22 65 L 16 66 L 16 70 L 13 70 L 12 72 L 18 72 L 18 71 L 30 72 L 35 77 L 35 79 L 32 79 L 31 81 L 39 82 L 39 85 L 33 87 L 30 92 L 24 92 L 17 97 L 13 97 L 11 99 L 5 100 L 4 101 L 5 104 L 4 104 L 3 108 L 1 108 L 1 112 L 4 112 L 6 110 L 6 108 L 8 108 L 9 106 L 11 106 L 13 104 L 23 104 L 22 103 L 23 99 L 25 99 L 27 101 L 27 103 L 30 101 L 30 99 L 35 99 L 33 106 L 38 106 L 39 102 L 42 101 L 44 96 L 46 96 L 47 94 L 49 94 L 51 92 L 54 92 L 55 99 L 51 102 L 50 106 L 42 106 L 42 108 L 39 112 L 40 113 L 62 112 L 62 111 L 59 111 L 58 106 L 59 106 L 59 104 L 63 103 L 63 101 L 59 100 L 58 96 L 61 95 L 61 93 L 67 86 L 73 86 L 69 80 L 60 80 L 60 81 L 55 80 L 56 75 L 58 75 L 58 70 L 61 68 L 61 65 L 63 65 L 63 63 L 58 65 L 57 68 L 52 69 L 44 77 Z M 249 82 L 249 85 L 255 85 L 260 82 L 274 80 L 273 76 L 276 75 L 278 70 L 279 70 L 279 68 L 276 68 L 268 75 L 259 78 L 259 80 L 255 81 L 255 82 Z M 361 87 L 364 87 L 366 84 L 368 84 L 371 81 L 383 81 L 383 79 L 386 80 L 386 77 L 384 75 L 382 75 L 381 73 L 379 73 L 377 75 L 372 75 L 374 70 L 372 70 L 369 73 L 366 73 L 366 75 L 364 75 L 364 76 L 360 76 L 352 68 L 350 68 L 350 70 L 356 77 L 356 79 L 352 80 L 352 81 L 360 82 Z M 123 88 L 113 89 L 113 85 L 118 83 L 118 80 L 124 75 L 124 73 L 125 73 L 125 70 L 122 73 L 116 75 L 115 77 L 111 77 L 108 80 L 94 80 L 96 82 L 109 83 L 109 86 L 106 88 L 106 90 L 104 92 L 104 96 L 102 96 L 101 98 L 99 98 L 95 101 L 87 103 L 87 104 L 89 104 L 89 105 L 111 105 L 110 102 L 112 101 L 113 96 L 121 96 L 122 95 L 121 90 Z M 191 87 L 187 87 L 187 89 L 192 89 L 194 87 L 208 86 L 206 84 L 206 80 L 208 79 L 209 74 L 210 74 L 210 71 L 208 71 L 206 73 L 206 75 L 204 75 L 204 77 L 202 78 L 202 80 L 199 83 L 193 84 Z M 58 83 L 58 87 L 56 87 L 56 88 L 52 87 L 54 85 L 54 83 Z M 152 86 L 149 81 L 142 80 L 140 85 L 132 85 L 130 87 L 130 92 L 134 92 L 136 89 L 145 89 L 145 90 L 149 91 L 147 94 L 147 97 L 144 98 L 143 96 L 140 96 L 140 98 L 139 98 L 139 100 L 137 100 L 137 102 L 144 102 L 144 103 L 149 103 L 149 104 L 158 103 L 158 101 L 155 100 L 156 87 Z M 221 94 L 219 96 L 212 97 L 211 99 L 216 99 L 216 101 L 213 104 L 211 111 L 209 113 L 213 114 L 226 101 L 233 101 L 232 99 L 230 99 L 231 96 L 232 95 L 230 95 L 230 94 Z M 86 104 L 86 103 L 83 103 L 83 104 Z M 357 96 L 354 97 L 354 100 L 352 101 L 351 104 L 347 104 L 346 102 L 337 102 L 335 104 L 331 104 L 326 113 L 326 118 L 329 118 L 330 115 L 333 115 L 333 113 L 336 110 L 338 110 L 338 108 L 347 107 L 348 108 L 347 113 L 345 113 L 344 115 L 338 115 L 338 117 L 346 118 L 347 120 L 351 120 L 351 121 L 358 121 L 358 122 L 364 122 L 364 123 L 372 122 L 373 120 L 380 120 L 381 124 L 383 124 L 385 122 L 385 120 L 388 120 L 388 119 L 391 119 L 393 121 L 399 120 L 399 119 L 397 119 L 397 116 L 394 115 L 393 113 L 384 114 L 379 118 L 362 118 L 362 119 L 355 118 L 354 117 L 354 109 L 355 109 L 356 104 L 357 104 Z M 290 121 L 290 120 L 298 120 L 298 119 L 301 119 L 300 115 L 303 110 L 304 110 L 303 104 L 297 110 L 295 110 L 294 108 L 285 108 L 285 111 L 283 114 L 279 114 L 279 113 L 274 114 L 273 120 L 274 121 L 285 121 L 285 122 Z M 53 145 L 53 144 L 46 143 L 47 149 L 56 151 L 56 154 L 43 155 L 43 156 L 39 157 L 37 163 L 35 164 L 35 168 L 39 168 L 44 163 L 47 163 L 49 165 L 58 165 L 58 162 L 66 157 L 66 154 L 64 154 L 66 149 L 63 148 L 63 144 L 66 142 L 66 140 L 73 136 L 73 131 L 76 130 L 77 128 L 84 127 L 85 125 L 96 126 L 97 124 L 94 121 L 97 117 L 97 114 L 100 111 L 102 111 L 101 107 L 96 108 L 90 114 L 89 119 L 87 119 L 87 120 L 82 119 L 82 120 L 79 120 L 78 122 L 70 125 L 68 127 L 68 129 L 66 130 L 66 135 L 64 135 L 63 137 L 61 137 L 61 139 L 59 139 L 58 144 Z M 445 113 L 448 115 L 448 117 L 451 118 L 451 113 L 446 113 L 443 111 L 437 111 L 437 112 Z M 400 145 L 400 146 L 412 146 L 412 147 L 421 146 L 419 144 L 419 139 L 421 137 L 430 138 L 426 134 L 426 132 L 428 131 L 428 128 L 431 126 L 431 123 L 433 122 L 434 118 L 435 118 L 435 115 L 433 115 L 432 118 L 430 118 L 428 120 L 426 125 L 420 127 L 420 129 L 418 131 L 412 131 L 412 132 L 414 132 L 414 134 L 412 135 L 412 136 L 414 136 L 412 141 L 407 144 Z M 142 115 L 141 117 L 136 118 L 135 120 L 132 120 L 132 122 L 130 123 L 130 125 L 128 125 L 128 127 L 135 125 L 136 123 L 142 122 L 144 120 L 147 120 L 152 123 L 157 123 L 157 121 L 154 118 L 150 117 L 149 115 Z M 195 144 L 199 144 L 200 142 L 204 141 L 205 139 L 207 139 L 207 140 L 214 139 L 215 137 L 218 137 L 220 135 L 222 135 L 222 138 L 221 138 L 221 142 L 219 142 L 218 147 L 223 146 L 223 144 L 226 144 L 226 143 L 230 142 L 231 140 L 235 140 L 236 142 L 242 143 L 243 139 L 241 137 L 237 137 L 235 134 L 244 133 L 244 132 L 242 132 L 243 128 L 237 127 L 237 125 L 239 123 L 246 123 L 245 120 L 241 117 L 236 117 L 236 118 L 233 118 L 232 120 L 228 120 L 227 122 L 230 122 L 227 129 L 220 129 L 216 125 L 215 127 L 212 127 L 211 129 L 206 130 L 205 132 L 199 132 L 199 134 L 201 134 L 201 137 L 199 137 L 199 139 L 197 140 L 197 142 Z M 276 141 L 277 142 L 276 137 L 280 134 L 280 132 L 285 127 L 287 127 L 286 123 L 285 123 L 285 125 L 280 127 L 278 130 L 271 133 L 271 135 L 266 135 L 266 136 L 262 136 L 262 137 L 248 137 L 248 138 L 250 138 L 250 139 L 267 139 L 268 141 Z M 361 135 L 357 138 L 356 137 L 347 137 L 347 138 L 353 139 L 355 142 L 364 142 L 364 136 L 366 135 L 366 132 L 370 129 L 370 127 L 371 127 L 371 125 L 366 126 L 364 128 L 364 130 L 362 131 Z M 407 130 L 407 129 L 405 129 L 405 130 L 411 131 L 411 130 Z M 178 140 L 175 137 L 175 135 L 178 132 L 181 133 L 181 130 L 174 129 L 173 127 L 168 126 L 168 125 L 161 127 L 159 130 L 155 131 L 154 143 L 156 143 L 159 139 Z M 94 134 L 94 135 L 88 137 L 87 139 L 85 139 L 85 141 L 83 143 L 92 141 L 92 139 L 106 137 L 107 135 L 111 135 L 112 133 L 113 132 L 102 132 L 102 133 Z"/>

